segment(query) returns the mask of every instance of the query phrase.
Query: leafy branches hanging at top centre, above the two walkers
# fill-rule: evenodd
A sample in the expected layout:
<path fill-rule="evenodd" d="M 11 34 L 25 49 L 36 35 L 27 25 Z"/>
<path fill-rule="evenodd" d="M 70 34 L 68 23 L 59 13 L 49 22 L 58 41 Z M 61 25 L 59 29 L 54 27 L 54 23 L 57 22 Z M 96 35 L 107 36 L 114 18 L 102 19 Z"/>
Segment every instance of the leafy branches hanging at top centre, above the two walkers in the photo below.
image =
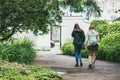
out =
<path fill-rule="evenodd" d="M 87 19 L 90 16 L 101 16 L 101 9 L 97 5 L 96 0 L 65 0 L 64 2 L 70 7 L 71 12 L 86 12 Z"/>

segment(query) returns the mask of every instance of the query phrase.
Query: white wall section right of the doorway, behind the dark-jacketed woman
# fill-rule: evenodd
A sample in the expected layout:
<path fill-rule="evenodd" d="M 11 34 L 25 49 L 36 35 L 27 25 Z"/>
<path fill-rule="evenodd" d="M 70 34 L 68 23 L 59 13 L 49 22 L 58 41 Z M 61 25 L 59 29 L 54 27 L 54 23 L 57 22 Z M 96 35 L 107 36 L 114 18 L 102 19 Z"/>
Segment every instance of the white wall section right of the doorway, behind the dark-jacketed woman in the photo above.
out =
<path fill-rule="evenodd" d="M 88 31 L 89 23 L 86 22 L 83 17 L 80 16 L 63 16 L 63 22 L 61 23 L 61 43 L 62 45 L 67 41 L 72 39 L 71 33 L 74 28 L 74 24 L 78 23 L 80 28 L 83 29 L 85 34 Z"/>

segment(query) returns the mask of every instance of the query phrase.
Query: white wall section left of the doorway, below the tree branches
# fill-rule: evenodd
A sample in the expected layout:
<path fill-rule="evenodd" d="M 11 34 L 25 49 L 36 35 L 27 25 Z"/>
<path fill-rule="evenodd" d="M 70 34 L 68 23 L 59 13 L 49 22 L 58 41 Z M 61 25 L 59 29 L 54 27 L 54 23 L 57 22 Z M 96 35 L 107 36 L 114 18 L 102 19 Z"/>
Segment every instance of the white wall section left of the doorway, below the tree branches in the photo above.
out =
<path fill-rule="evenodd" d="M 45 35 L 34 35 L 31 31 L 16 33 L 13 35 L 14 38 L 19 40 L 23 40 L 24 38 L 28 38 L 32 43 L 33 47 L 41 50 L 50 49 L 50 32 Z"/>

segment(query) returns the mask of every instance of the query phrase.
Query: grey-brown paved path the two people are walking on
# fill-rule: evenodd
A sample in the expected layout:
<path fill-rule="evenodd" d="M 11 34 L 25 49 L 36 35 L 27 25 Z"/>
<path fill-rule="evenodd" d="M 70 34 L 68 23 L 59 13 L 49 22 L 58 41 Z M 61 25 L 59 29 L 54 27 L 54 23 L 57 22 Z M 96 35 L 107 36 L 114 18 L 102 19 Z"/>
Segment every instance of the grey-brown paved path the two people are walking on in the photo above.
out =
<path fill-rule="evenodd" d="M 31 63 L 57 71 L 64 80 L 120 80 L 120 64 L 97 60 L 94 69 L 88 69 L 87 59 L 83 59 L 83 67 L 74 64 L 74 57 L 61 55 L 59 50 L 40 51 Z"/>

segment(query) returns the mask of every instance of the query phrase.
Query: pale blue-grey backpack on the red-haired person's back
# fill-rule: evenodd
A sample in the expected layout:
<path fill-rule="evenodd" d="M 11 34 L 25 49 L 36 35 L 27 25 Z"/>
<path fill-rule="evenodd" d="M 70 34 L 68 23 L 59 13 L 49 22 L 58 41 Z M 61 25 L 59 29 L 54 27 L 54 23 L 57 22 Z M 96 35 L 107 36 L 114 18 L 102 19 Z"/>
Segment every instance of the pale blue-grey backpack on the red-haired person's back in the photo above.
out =
<path fill-rule="evenodd" d="M 96 33 L 91 32 L 89 34 L 89 40 L 88 40 L 88 42 L 89 42 L 90 46 L 97 45 L 97 35 L 96 35 Z"/>

